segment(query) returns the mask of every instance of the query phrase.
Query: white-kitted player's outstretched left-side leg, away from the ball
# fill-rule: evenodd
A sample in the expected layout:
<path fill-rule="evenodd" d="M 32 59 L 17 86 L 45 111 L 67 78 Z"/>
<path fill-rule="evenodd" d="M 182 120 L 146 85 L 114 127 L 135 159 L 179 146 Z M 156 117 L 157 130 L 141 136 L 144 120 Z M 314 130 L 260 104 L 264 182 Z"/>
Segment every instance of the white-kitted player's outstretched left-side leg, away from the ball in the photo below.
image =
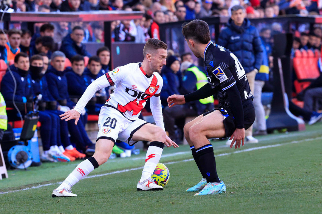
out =
<path fill-rule="evenodd" d="M 76 194 L 71 193 L 71 187 L 90 174 L 91 171 L 105 163 L 109 159 L 113 146 L 113 141 L 99 139 L 96 142 L 94 155 L 78 164 L 62 184 L 52 192 L 52 197 L 77 196 Z"/>

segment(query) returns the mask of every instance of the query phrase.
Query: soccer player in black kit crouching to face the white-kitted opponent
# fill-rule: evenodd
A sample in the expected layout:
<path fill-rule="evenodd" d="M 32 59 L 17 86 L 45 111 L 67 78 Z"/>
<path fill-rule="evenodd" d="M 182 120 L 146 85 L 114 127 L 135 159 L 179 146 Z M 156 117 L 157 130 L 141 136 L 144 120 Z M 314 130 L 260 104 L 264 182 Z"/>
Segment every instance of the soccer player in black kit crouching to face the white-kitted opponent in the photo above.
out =
<path fill-rule="evenodd" d="M 184 24 L 182 34 L 193 54 L 204 58 L 208 83 L 190 94 L 169 96 L 169 107 L 207 98 L 215 93 L 219 100 L 218 109 L 198 116 L 184 127 L 185 138 L 203 176 L 187 192 L 200 191 L 195 195 L 223 193 L 226 186 L 218 178 L 213 147 L 208 139 L 230 137 L 233 139 L 230 148 L 235 142 L 235 149 L 244 145 L 245 130 L 255 120 L 253 95 L 242 65 L 228 49 L 211 41 L 205 21 L 193 20 Z"/>

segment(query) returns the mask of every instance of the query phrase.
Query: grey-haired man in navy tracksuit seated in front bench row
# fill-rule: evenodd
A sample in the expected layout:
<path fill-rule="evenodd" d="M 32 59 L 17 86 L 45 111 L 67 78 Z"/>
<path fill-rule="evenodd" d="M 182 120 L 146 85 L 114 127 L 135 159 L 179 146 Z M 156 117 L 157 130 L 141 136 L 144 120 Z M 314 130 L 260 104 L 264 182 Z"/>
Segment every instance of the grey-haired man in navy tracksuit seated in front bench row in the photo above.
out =
<path fill-rule="evenodd" d="M 63 112 L 75 107 L 75 103 L 69 98 L 67 78 L 64 75 L 65 58 L 64 53 L 55 51 L 52 54 L 51 66 L 49 66 L 45 75 L 50 94 L 60 104 L 57 110 Z M 85 114 L 86 112 L 83 111 L 82 116 Z M 95 144 L 88 138 L 83 121 L 85 119 L 81 117 L 77 125 L 74 124 L 74 121 L 67 122 L 68 130 L 71 134 L 71 142 L 76 144 L 77 150 L 83 151 L 87 155 L 93 155 Z"/>

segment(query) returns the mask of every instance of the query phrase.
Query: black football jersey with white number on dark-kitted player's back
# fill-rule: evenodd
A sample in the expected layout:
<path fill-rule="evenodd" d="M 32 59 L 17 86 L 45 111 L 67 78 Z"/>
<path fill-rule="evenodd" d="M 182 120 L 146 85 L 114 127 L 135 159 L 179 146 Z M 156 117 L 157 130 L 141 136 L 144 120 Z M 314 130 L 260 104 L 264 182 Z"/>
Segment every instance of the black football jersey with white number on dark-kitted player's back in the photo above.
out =
<path fill-rule="evenodd" d="M 210 42 L 204 52 L 204 63 L 208 82 L 220 104 L 229 104 L 225 90 L 235 84 L 242 102 L 254 98 L 242 65 L 228 49 Z"/>

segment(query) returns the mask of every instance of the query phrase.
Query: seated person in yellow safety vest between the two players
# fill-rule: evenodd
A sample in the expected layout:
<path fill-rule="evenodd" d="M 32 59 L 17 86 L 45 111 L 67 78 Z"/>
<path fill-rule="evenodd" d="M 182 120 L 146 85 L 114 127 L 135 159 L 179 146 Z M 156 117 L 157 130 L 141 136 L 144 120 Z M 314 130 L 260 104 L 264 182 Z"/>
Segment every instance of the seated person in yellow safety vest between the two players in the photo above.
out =
<path fill-rule="evenodd" d="M 185 61 L 181 64 L 181 72 L 184 73 L 182 86 L 180 89 L 181 94 L 188 94 L 203 87 L 207 82 L 206 75 L 199 70 L 197 66 L 191 62 Z M 178 139 L 178 133 L 175 127 L 175 120 L 179 118 L 185 118 L 188 116 L 198 116 L 214 108 L 213 96 L 189 102 L 184 105 L 175 105 L 174 107 L 164 108 L 164 124 L 166 131 L 169 132 L 169 137 L 175 142 L 179 142 L 182 139 Z"/>

